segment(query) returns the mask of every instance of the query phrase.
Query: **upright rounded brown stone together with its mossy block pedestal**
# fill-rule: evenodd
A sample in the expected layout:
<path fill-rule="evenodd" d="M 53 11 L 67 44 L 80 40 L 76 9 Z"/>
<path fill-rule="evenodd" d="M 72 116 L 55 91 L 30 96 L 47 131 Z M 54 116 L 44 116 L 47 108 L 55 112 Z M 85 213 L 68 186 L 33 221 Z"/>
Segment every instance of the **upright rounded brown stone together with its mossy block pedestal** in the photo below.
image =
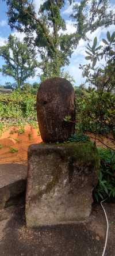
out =
<path fill-rule="evenodd" d="M 37 117 L 41 138 L 47 143 L 28 148 L 25 214 L 29 228 L 77 223 L 87 220 L 91 213 L 98 152 L 90 140 L 63 143 L 75 129 L 74 123 L 64 121 L 66 116 L 75 121 L 70 82 L 51 78 L 41 83 Z"/>

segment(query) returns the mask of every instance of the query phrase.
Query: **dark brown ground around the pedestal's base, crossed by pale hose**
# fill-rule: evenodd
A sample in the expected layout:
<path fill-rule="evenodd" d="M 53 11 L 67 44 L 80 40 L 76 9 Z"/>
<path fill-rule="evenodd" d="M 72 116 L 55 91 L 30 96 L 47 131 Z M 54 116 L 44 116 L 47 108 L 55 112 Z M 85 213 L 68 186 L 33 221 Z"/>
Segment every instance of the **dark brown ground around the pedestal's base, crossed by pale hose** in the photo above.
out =
<path fill-rule="evenodd" d="M 105 256 L 115 255 L 115 205 L 105 204 L 109 219 L 109 240 Z M 101 256 L 106 220 L 100 205 L 93 205 L 88 223 L 58 225 L 28 230 L 24 204 L 2 212 L 0 222 L 1 256 Z M 6 219 L 7 218 L 7 219 Z"/>

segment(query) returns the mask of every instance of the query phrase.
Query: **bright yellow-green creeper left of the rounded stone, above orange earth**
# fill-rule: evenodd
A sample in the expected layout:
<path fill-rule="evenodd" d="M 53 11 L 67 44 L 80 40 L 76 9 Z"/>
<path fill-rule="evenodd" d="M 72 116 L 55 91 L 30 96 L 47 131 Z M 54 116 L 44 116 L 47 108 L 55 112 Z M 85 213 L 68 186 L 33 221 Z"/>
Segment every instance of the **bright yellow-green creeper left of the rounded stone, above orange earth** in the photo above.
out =
<path fill-rule="evenodd" d="M 18 91 L 10 95 L 0 93 L 0 112 L 1 119 L 11 119 L 11 121 L 17 119 L 17 122 L 21 122 L 21 119 L 36 121 L 36 96 Z"/>

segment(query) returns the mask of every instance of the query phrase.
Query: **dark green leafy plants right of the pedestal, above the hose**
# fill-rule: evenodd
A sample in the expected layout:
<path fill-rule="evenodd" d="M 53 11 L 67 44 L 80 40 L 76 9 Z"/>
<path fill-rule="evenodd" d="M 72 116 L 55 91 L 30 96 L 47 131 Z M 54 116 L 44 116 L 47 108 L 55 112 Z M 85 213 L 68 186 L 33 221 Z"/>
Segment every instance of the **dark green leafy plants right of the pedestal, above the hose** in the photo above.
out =
<path fill-rule="evenodd" d="M 98 185 L 94 189 L 97 201 L 115 198 L 115 151 L 98 148 L 101 165 L 98 174 Z"/>

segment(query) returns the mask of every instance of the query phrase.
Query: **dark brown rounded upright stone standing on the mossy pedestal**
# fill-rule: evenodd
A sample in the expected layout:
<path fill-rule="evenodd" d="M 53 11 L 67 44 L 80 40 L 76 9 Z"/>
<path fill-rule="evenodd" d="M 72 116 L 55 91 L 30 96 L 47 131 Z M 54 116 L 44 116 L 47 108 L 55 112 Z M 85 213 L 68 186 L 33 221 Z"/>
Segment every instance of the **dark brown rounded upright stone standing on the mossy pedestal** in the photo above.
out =
<path fill-rule="evenodd" d="M 37 93 L 37 119 L 44 142 L 63 142 L 74 133 L 75 94 L 70 82 L 64 78 L 49 78 L 41 83 Z"/>

